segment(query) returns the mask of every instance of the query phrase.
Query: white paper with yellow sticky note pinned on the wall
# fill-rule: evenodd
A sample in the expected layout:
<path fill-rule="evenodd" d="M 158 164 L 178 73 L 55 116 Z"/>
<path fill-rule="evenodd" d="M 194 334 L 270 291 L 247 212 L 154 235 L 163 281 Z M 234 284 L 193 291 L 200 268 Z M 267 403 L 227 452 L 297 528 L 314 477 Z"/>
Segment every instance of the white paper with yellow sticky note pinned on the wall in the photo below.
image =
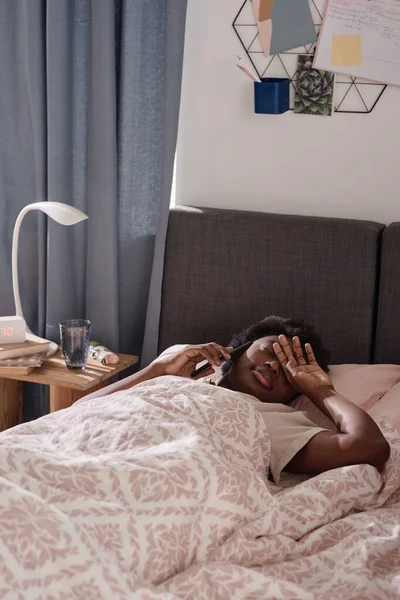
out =
<path fill-rule="evenodd" d="M 400 0 L 329 0 L 314 68 L 400 85 Z"/>

